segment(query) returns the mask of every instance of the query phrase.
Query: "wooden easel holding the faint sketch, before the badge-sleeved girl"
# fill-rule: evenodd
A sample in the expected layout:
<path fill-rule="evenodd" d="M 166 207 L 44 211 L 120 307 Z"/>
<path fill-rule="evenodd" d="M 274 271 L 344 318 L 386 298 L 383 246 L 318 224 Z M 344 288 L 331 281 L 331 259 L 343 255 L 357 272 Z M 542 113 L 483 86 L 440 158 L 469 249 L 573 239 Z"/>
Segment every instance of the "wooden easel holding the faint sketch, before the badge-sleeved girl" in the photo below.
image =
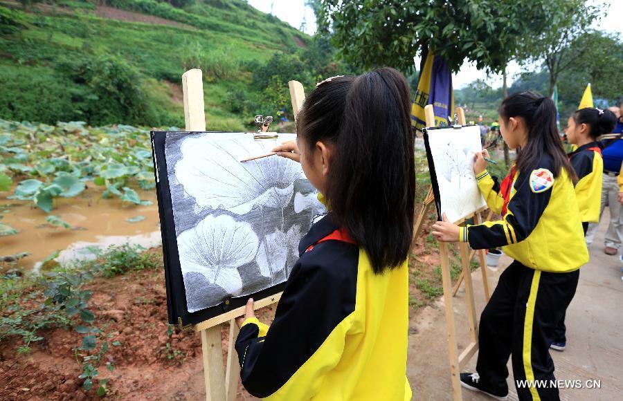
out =
<path fill-rule="evenodd" d="M 426 115 L 426 126 L 433 127 L 435 125 L 435 115 L 433 113 L 433 105 L 429 104 L 424 107 L 424 115 Z M 457 109 L 457 115 L 459 118 L 459 123 L 465 124 L 465 114 L 462 108 Z M 428 196 L 426 196 L 426 200 L 432 194 L 432 187 L 428 190 Z M 434 200 L 434 198 L 433 198 Z M 422 207 L 422 212 L 426 214 L 426 209 L 428 209 L 428 205 L 430 205 L 432 201 L 428 203 L 424 203 L 424 207 Z M 458 225 L 463 225 L 464 221 L 468 218 L 473 217 L 474 223 L 480 224 L 482 223 L 482 215 L 481 213 L 486 209 L 482 208 L 481 210 L 477 210 L 473 215 L 467 216 L 462 219 L 462 221 L 456 222 Z M 422 212 L 420 212 L 420 216 L 418 216 L 418 222 L 420 221 L 420 217 L 422 217 Z M 421 224 L 421 223 L 420 223 Z M 421 230 L 420 227 L 416 227 L 416 232 Z M 460 383 L 460 371 L 464 368 L 464 366 L 469 362 L 470 358 L 478 351 L 478 318 L 476 317 L 476 306 L 474 304 L 473 299 L 473 285 L 471 282 L 471 269 L 470 269 L 470 261 L 471 257 L 469 254 L 469 248 L 467 243 L 459 243 L 461 264 L 462 264 L 462 276 L 465 281 L 465 295 L 467 298 L 467 318 L 469 320 L 469 337 L 470 343 L 464 349 L 462 353 L 458 353 L 457 346 L 457 337 L 456 337 L 456 327 L 454 323 L 454 301 L 453 301 L 453 292 L 452 292 L 452 280 L 450 275 L 450 255 L 448 252 L 448 244 L 445 242 L 439 243 L 439 252 L 441 257 L 441 271 L 442 271 L 442 281 L 444 288 L 444 306 L 446 308 L 446 326 L 448 330 L 448 350 L 450 356 L 450 372 L 451 372 L 451 380 L 452 380 L 452 391 L 453 398 L 455 401 L 462 400 L 461 395 L 461 383 Z M 487 297 L 487 301 L 489 300 L 489 279 L 487 277 L 487 262 L 485 260 L 485 252 L 483 250 L 476 251 L 479 254 L 480 259 L 480 270 L 482 270 L 482 282 L 485 286 L 485 296 Z M 473 254 L 471 255 L 473 256 Z"/>

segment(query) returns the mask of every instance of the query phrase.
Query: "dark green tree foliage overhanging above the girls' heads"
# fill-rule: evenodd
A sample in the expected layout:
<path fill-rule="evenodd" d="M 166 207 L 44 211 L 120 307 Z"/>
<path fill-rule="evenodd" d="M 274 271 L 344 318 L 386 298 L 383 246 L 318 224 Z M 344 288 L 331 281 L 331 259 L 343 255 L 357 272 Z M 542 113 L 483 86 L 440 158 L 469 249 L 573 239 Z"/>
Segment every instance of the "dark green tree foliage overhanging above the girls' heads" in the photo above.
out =
<path fill-rule="evenodd" d="M 551 15 L 544 10 L 559 14 L 548 2 L 323 0 L 318 27 L 348 61 L 364 68 L 389 65 L 407 71 L 415 55 L 431 49 L 453 71 L 467 58 L 477 68 L 499 72 L 527 32 L 548 26 Z"/>

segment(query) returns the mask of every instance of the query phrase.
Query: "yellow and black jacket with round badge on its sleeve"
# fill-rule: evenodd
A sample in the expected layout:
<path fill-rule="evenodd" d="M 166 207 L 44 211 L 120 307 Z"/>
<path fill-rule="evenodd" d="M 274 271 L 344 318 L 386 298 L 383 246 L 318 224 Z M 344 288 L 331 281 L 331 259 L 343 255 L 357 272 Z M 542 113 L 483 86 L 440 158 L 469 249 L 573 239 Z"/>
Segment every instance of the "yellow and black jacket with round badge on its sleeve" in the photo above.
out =
<path fill-rule="evenodd" d="M 570 272 L 588 262 L 573 183 L 564 169 L 557 178 L 552 170 L 552 157 L 544 153 L 531 171 L 513 167 L 502 185 L 487 170 L 478 174 L 482 196 L 502 220 L 466 225 L 460 241 L 473 249 L 501 246 L 528 268 L 545 272 Z"/>

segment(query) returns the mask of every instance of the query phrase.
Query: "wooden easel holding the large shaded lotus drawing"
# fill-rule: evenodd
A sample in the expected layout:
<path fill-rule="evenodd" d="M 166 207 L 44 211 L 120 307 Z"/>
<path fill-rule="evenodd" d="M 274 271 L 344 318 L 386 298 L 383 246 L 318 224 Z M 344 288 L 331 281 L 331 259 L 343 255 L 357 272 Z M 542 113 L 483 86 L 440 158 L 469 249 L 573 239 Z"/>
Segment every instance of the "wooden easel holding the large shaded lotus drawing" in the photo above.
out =
<path fill-rule="evenodd" d="M 300 82 L 290 81 L 290 95 L 294 116 L 298 115 L 300 106 L 305 100 L 305 92 Z M 192 69 L 182 75 L 184 95 L 184 120 L 186 131 L 206 131 L 206 115 L 204 109 L 204 85 L 201 79 L 201 70 Z M 253 308 L 275 304 L 281 298 L 281 292 L 270 297 L 258 299 Z M 244 315 L 245 306 L 202 321 L 193 329 L 201 333 L 201 354 L 204 360 L 204 380 L 206 382 L 206 400 L 233 401 L 236 399 L 238 382 L 240 381 L 240 367 L 237 353 L 234 348 L 235 339 L 240 329 L 235 318 Z M 223 366 L 223 351 L 221 343 L 222 324 L 229 321 L 229 345 L 227 349 L 227 364 Z"/>

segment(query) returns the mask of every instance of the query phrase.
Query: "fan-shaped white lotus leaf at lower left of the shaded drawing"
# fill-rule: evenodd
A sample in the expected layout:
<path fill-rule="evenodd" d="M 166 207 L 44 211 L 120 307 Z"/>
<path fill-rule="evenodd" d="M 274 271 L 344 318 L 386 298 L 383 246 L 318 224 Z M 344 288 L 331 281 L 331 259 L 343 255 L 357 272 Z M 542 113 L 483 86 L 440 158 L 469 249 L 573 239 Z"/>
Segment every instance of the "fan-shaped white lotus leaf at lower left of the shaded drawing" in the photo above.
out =
<path fill-rule="evenodd" d="M 187 287 L 191 286 L 186 283 L 188 273 L 197 272 L 228 294 L 238 295 L 242 291 L 238 268 L 253 261 L 259 240 L 249 223 L 227 215 L 210 215 L 182 232 L 177 245 Z M 190 302 L 189 312 L 195 312 L 190 310 Z"/>

